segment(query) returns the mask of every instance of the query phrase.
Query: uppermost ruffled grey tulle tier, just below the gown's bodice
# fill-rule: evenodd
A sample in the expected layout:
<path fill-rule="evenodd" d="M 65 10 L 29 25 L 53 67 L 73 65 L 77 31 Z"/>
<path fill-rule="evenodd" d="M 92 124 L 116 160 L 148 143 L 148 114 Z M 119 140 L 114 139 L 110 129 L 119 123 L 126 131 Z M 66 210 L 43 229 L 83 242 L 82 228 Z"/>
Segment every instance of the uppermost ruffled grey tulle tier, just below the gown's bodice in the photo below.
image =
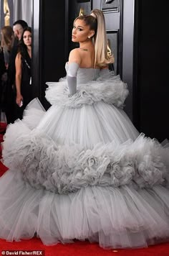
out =
<path fill-rule="evenodd" d="M 101 74 L 96 81 L 89 80 L 88 83 L 81 81 L 77 84 L 77 93 L 71 97 L 68 96 L 69 88 L 66 78 L 55 83 L 48 82 L 47 101 L 52 105 L 71 109 L 77 109 L 84 104 L 92 105 L 100 101 L 122 108 L 128 95 L 127 84 L 120 79 L 120 76 L 114 76 L 109 70 L 102 70 Z"/>

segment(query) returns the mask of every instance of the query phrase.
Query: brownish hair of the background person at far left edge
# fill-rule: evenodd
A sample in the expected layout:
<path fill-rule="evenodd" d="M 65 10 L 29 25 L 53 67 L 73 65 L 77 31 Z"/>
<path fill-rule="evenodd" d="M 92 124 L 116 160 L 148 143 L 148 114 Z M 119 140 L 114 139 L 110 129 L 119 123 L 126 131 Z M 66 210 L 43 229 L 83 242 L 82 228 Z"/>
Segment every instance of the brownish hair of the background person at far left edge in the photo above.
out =
<path fill-rule="evenodd" d="M 14 31 L 11 26 L 4 26 L 1 29 L 1 47 L 11 50 L 14 43 Z"/>

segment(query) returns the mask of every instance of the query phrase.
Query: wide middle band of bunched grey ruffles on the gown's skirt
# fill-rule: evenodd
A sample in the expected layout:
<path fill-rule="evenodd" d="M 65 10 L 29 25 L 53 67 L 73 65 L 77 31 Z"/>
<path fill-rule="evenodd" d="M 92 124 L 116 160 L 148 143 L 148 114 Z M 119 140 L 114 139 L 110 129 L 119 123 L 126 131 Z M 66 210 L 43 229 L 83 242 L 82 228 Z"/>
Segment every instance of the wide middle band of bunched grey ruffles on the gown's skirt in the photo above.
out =
<path fill-rule="evenodd" d="M 12 143 L 8 134 L 14 134 Z M 47 134 L 31 131 L 21 121 L 9 127 L 3 143 L 4 165 L 20 170 L 34 188 L 61 194 L 87 186 L 163 184 L 168 177 L 168 152 L 143 134 L 122 144 L 98 143 L 92 150 L 82 145 L 57 145 Z"/>

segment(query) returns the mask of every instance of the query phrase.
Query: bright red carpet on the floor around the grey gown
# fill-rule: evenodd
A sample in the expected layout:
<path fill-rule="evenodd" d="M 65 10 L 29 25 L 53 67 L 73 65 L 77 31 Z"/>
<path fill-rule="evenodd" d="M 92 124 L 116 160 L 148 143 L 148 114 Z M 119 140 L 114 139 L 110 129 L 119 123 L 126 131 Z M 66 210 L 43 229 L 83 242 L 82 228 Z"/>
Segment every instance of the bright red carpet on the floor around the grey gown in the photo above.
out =
<path fill-rule="evenodd" d="M 0 127 L 0 142 L 2 142 L 5 126 L 3 128 L 2 126 Z M 0 162 L 0 176 L 3 175 L 6 170 L 7 168 Z M 17 250 L 43 250 L 45 256 L 169 256 L 169 243 L 158 244 L 148 248 L 135 250 L 103 250 L 99 247 L 98 244 L 90 244 L 90 242 L 87 241 L 76 241 L 73 244 L 57 244 L 54 246 L 45 246 L 42 244 L 40 239 L 34 237 L 27 240 L 22 239 L 21 242 L 6 242 L 4 239 L 0 239 L 0 253 L 3 250 L 14 250 L 15 252 L 17 252 Z M 1 255 L 3 255 L 3 253 L 1 253 Z"/>

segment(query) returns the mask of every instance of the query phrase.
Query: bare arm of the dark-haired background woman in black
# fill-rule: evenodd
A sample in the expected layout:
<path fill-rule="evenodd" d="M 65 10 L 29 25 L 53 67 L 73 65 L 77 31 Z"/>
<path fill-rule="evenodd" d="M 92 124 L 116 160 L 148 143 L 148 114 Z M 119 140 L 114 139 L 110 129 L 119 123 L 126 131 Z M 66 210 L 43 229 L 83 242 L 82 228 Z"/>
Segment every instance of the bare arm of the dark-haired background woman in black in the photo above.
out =
<path fill-rule="evenodd" d="M 16 68 L 16 76 L 15 76 L 15 83 L 16 83 L 16 104 L 21 106 L 21 101 L 23 97 L 21 96 L 21 54 L 18 53 L 15 58 L 15 68 Z"/>

